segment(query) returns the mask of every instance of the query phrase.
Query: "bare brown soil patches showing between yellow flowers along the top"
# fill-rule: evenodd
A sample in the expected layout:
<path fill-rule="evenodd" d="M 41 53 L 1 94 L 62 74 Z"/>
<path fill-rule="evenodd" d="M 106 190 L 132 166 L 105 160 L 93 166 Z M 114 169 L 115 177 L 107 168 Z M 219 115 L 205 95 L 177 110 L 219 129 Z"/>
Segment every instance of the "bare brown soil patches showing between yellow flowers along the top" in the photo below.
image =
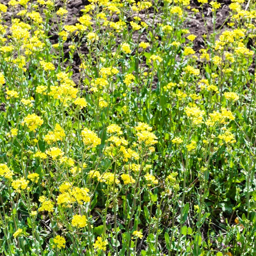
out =
<path fill-rule="evenodd" d="M 0 3 L 6 4 L 6 0 L 0 0 Z M 229 8 L 228 5 L 231 3 L 231 0 L 223 0 L 218 1 L 221 3 L 221 9 L 218 9 L 217 12 L 217 19 L 215 24 L 215 29 L 218 31 L 219 29 L 222 31 L 225 30 L 225 25 L 229 22 Z M 68 25 L 75 25 L 78 23 L 77 18 L 80 17 L 83 12 L 80 10 L 84 8 L 84 6 L 88 5 L 90 2 L 87 0 L 70 0 L 70 2 L 67 4 L 67 10 L 68 15 L 67 19 L 65 21 Z M 57 8 L 61 7 L 62 2 L 57 1 Z M 212 12 L 211 8 L 208 4 L 204 5 L 203 13 L 204 18 L 202 17 L 201 13 L 201 7 L 200 3 L 198 3 L 197 0 L 191 0 L 190 3 L 191 8 L 187 9 L 188 16 L 186 18 L 186 28 L 189 29 L 189 31 L 192 34 L 195 34 L 197 38 L 195 38 L 194 47 L 193 49 L 198 53 L 200 49 L 205 48 L 204 39 L 202 35 L 204 34 L 211 34 L 213 32 L 213 26 L 212 26 Z M 200 12 L 194 13 L 192 11 L 193 8 L 198 9 Z M 15 14 L 20 11 L 20 7 L 15 9 Z M 17 15 L 14 17 L 18 17 Z M 6 25 L 9 25 L 11 23 L 11 13 L 8 12 L 7 16 L 5 17 Z M 116 20 L 117 21 L 117 20 Z M 205 26 L 206 24 L 206 26 Z M 224 26 L 223 26 L 224 24 Z M 49 40 L 52 42 L 52 44 L 58 43 L 58 34 L 55 31 L 49 32 L 50 38 Z M 134 40 L 136 41 L 136 33 L 134 33 Z M 119 38 L 119 41 L 121 41 L 122 38 Z M 145 40 L 143 38 L 143 35 L 141 36 L 140 40 Z M 118 43 L 118 42 L 117 42 Z M 67 41 L 64 43 L 64 58 L 69 58 L 69 45 L 71 44 L 70 38 L 67 39 Z M 88 52 L 86 44 L 81 46 L 81 53 L 86 54 Z M 73 56 L 73 63 L 72 68 L 70 71 L 73 72 L 72 79 L 73 81 L 78 84 L 80 80 L 80 73 L 79 73 L 79 65 L 81 64 L 81 60 L 79 58 L 79 55 L 77 52 L 75 52 L 75 55 Z M 67 65 L 67 64 L 66 64 Z M 254 72 L 254 66 L 251 67 L 252 72 Z"/>

